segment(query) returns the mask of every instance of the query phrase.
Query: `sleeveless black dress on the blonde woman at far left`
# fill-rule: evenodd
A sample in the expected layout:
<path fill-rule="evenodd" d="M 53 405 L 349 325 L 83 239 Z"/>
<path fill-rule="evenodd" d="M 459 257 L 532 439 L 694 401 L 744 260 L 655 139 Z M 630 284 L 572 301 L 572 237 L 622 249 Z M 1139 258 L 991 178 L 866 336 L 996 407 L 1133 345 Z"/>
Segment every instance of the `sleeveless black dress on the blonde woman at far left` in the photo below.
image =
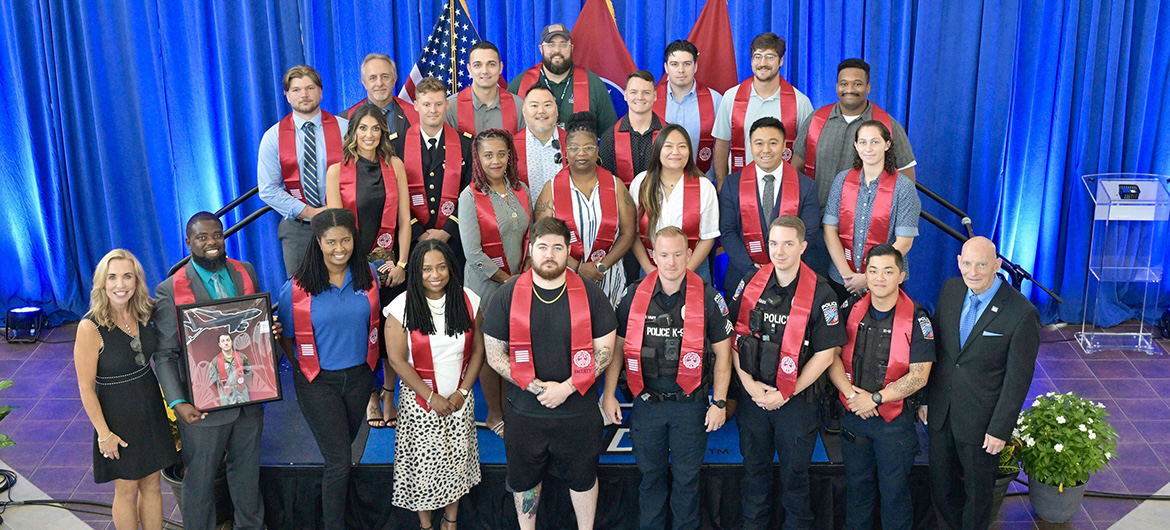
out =
<path fill-rule="evenodd" d="M 118 448 L 118 460 L 106 459 L 94 433 L 94 482 L 138 480 L 178 463 L 163 393 L 150 366 L 151 353 L 158 350 L 158 329 L 153 323 L 138 324 L 142 353 L 132 347 L 132 337 L 117 326 L 97 325 L 97 332 L 102 336 L 94 385 L 97 401 L 106 426 L 126 447 Z"/>

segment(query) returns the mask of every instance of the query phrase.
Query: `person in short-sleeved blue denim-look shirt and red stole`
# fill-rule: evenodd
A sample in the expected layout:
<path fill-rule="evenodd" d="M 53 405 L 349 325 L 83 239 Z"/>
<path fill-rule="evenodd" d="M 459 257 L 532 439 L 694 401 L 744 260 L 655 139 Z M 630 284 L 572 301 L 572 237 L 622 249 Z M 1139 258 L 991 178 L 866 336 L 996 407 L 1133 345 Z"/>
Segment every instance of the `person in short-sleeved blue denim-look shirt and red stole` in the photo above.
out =
<path fill-rule="evenodd" d="M 853 136 L 853 168 L 833 179 L 825 204 L 830 284 L 840 300 L 866 290 L 865 256 L 890 243 L 903 256 L 918 235 L 922 201 L 914 181 L 897 171 L 886 124 L 869 119 Z"/>

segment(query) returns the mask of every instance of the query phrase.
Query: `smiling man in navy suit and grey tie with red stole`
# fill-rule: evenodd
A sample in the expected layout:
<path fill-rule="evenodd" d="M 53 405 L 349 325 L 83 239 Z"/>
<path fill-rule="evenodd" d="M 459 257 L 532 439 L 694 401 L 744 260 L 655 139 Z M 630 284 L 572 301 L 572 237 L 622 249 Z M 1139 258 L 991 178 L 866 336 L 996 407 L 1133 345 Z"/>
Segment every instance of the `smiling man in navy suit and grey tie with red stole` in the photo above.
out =
<path fill-rule="evenodd" d="M 748 271 L 768 264 L 768 233 L 764 227 L 773 219 L 797 215 L 805 223 L 805 241 L 811 248 L 823 240 L 817 185 L 782 158 L 785 149 L 784 124 L 765 116 L 751 124 L 750 135 L 753 160 L 743 171 L 728 175 L 720 191 L 720 242 L 728 254 L 723 292 L 729 294 L 735 292 Z M 786 190 L 785 186 L 793 181 L 797 190 Z M 742 202 L 741 191 L 755 199 Z M 827 270 L 815 271 L 827 274 Z"/>

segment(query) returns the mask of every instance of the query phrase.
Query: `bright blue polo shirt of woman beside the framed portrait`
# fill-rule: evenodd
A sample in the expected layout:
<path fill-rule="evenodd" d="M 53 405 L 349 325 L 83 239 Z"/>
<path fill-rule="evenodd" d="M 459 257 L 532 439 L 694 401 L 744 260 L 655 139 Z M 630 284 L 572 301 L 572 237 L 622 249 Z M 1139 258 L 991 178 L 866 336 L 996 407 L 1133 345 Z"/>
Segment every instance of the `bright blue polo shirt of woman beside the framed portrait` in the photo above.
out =
<path fill-rule="evenodd" d="M 377 274 L 374 275 L 377 278 Z M 281 307 L 276 318 L 283 326 L 284 337 L 296 336 L 292 322 L 292 282 L 281 288 Z M 370 301 L 366 292 L 353 288 L 353 277 L 345 271 L 342 287 L 329 285 L 312 297 L 309 311 L 312 318 L 312 338 L 317 343 L 317 356 L 324 370 L 345 370 L 366 360 L 370 340 Z"/>

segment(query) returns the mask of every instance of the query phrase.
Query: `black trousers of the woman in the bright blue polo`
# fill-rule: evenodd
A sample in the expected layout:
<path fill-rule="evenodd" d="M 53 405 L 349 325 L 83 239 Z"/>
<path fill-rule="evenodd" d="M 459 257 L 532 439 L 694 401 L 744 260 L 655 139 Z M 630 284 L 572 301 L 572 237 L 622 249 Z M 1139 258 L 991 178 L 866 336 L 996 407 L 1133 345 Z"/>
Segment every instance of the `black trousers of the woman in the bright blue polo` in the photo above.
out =
<path fill-rule="evenodd" d="M 325 459 L 321 480 L 322 526 L 342 530 L 345 528 L 351 446 L 365 422 L 373 372 L 363 363 L 345 370 L 322 370 L 309 383 L 296 370 L 292 383 L 296 402 Z"/>

